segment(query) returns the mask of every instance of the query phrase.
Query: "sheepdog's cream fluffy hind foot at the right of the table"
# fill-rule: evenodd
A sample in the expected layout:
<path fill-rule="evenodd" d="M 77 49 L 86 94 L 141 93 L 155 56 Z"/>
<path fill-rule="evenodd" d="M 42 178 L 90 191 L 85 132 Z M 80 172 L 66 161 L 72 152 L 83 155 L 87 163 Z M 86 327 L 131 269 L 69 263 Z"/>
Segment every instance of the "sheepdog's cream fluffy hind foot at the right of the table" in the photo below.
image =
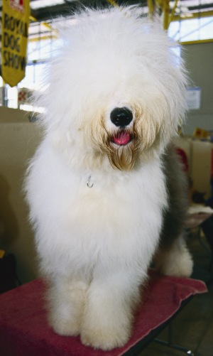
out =
<path fill-rule="evenodd" d="M 170 246 L 158 249 L 155 266 L 167 276 L 189 277 L 192 274 L 192 257 L 182 234 Z"/>

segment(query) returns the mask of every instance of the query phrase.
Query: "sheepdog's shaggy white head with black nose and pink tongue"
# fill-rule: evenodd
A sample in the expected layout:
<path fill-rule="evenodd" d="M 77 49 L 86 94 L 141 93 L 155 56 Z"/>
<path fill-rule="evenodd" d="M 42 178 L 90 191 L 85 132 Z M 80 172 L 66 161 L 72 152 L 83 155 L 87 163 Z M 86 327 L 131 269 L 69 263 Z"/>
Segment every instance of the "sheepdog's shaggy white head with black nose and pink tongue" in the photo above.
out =
<path fill-rule="evenodd" d="M 128 171 L 175 134 L 185 112 L 185 82 L 159 24 L 135 9 L 104 16 L 88 11 L 66 31 L 53 63 L 45 124 L 60 137 L 61 150 L 75 151 L 77 164 L 101 165 L 107 158 Z"/>

